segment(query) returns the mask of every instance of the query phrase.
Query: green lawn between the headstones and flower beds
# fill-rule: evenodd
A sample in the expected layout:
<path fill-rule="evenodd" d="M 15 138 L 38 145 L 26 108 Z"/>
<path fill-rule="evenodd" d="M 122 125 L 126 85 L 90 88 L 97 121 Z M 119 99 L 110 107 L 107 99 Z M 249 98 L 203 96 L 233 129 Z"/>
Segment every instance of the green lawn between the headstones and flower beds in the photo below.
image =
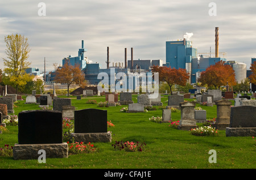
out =
<path fill-rule="evenodd" d="M 97 102 L 105 101 L 105 97 L 90 97 Z M 93 143 L 98 152 L 71 155 L 68 158 L 47 158 L 46 164 L 38 160 L 13 160 L 13 157 L 0 157 L 0 168 L 11 169 L 254 169 L 256 143 L 251 137 L 226 137 L 225 131 L 217 136 L 193 136 L 189 131 L 176 130 L 169 123 L 148 121 L 152 115 L 162 116 L 162 110 L 146 113 L 121 113 L 124 107 L 99 108 L 97 104 L 86 104 L 89 99 L 76 100 L 72 105 L 79 109 L 97 108 L 108 110 L 108 120 L 112 121 L 111 143 Z M 168 96 L 162 97 L 163 105 L 167 105 Z M 133 95 L 137 102 L 137 95 Z M 188 100 L 188 99 L 187 99 Z M 189 100 L 191 101 L 191 100 Z M 200 106 L 197 104 L 197 106 Z M 216 106 L 200 106 L 207 110 L 207 118 L 216 118 Z M 24 104 L 20 101 L 14 108 L 18 115 L 22 110 L 40 109 L 35 104 Z M 172 113 L 172 121 L 180 120 L 180 112 Z M 199 124 L 200 125 L 200 124 Z M 5 144 L 18 143 L 18 127 L 7 126 L 8 132 L 0 134 L 0 147 Z M 146 143 L 142 152 L 114 151 L 115 141 L 138 141 Z M 209 163 L 209 150 L 217 152 L 217 163 Z"/>

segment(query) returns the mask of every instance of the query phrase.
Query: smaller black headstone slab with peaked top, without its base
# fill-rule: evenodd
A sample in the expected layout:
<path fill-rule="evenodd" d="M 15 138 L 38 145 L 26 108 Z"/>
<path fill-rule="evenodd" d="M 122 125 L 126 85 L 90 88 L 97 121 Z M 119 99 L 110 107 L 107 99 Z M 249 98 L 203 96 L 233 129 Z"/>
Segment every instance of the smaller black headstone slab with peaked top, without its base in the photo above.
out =
<path fill-rule="evenodd" d="M 108 131 L 106 110 L 82 109 L 75 111 L 75 133 L 96 133 Z"/>

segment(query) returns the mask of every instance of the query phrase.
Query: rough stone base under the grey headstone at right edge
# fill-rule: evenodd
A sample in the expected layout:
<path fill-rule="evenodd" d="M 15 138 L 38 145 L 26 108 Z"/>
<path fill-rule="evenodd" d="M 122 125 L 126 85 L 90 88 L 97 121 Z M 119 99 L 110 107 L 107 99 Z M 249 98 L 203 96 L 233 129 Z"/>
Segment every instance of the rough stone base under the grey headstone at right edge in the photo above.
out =
<path fill-rule="evenodd" d="M 256 136 L 256 127 L 226 127 L 226 136 Z"/>

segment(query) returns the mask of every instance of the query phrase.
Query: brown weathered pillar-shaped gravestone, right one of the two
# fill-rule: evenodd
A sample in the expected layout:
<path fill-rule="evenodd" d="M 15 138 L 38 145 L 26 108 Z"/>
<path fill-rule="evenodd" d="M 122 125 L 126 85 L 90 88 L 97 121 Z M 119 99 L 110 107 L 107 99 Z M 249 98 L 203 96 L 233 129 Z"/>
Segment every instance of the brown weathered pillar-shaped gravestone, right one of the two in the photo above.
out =
<path fill-rule="evenodd" d="M 230 125 L 230 107 L 232 102 L 229 100 L 216 101 L 217 118 L 214 127 L 217 130 L 225 130 Z"/>

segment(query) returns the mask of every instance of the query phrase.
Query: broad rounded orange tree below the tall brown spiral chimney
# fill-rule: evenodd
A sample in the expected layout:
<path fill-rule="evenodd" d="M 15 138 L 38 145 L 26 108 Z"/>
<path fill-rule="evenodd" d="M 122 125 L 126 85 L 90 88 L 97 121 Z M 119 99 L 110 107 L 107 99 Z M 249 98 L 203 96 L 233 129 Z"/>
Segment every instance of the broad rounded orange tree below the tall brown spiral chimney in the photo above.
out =
<path fill-rule="evenodd" d="M 209 66 L 205 71 L 201 72 L 198 82 L 202 85 L 214 86 L 220 89 L 222 85 L 236 85 L 235 73 L 230 65 L 225 65 L 224 61 L 219 61 L 215 65 Z"/>

